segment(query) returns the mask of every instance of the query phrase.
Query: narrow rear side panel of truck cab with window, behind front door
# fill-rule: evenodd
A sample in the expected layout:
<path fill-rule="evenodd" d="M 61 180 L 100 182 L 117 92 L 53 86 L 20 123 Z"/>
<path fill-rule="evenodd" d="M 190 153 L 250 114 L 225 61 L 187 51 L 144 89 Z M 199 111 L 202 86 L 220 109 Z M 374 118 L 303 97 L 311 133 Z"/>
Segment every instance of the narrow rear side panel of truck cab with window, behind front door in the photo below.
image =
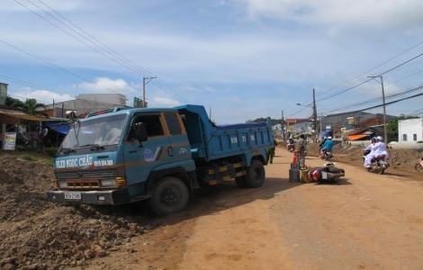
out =
<path fill-rule="evenodd" d="M 165 121 L 174 162 L 191 159 L 191 149 L 184 124 L 177 112 L 165 112 Z"/>

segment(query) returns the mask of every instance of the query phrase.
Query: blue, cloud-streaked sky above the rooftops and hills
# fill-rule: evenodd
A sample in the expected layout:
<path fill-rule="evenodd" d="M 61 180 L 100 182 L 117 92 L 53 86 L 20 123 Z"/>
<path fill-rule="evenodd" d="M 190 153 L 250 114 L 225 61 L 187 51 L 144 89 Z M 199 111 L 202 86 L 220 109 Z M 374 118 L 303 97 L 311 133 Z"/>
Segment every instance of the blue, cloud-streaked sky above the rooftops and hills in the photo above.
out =
<path fill-rule="evenodd" d="M 383 113 L 384 94 L 387 114 L 423 116 L 421 0 L 0 2 L 0 82 L 21 100 L 132 106 L 146 77 L 149 107 L 218 124 L 311 117 L 313 89 L 318 115 Z"/>

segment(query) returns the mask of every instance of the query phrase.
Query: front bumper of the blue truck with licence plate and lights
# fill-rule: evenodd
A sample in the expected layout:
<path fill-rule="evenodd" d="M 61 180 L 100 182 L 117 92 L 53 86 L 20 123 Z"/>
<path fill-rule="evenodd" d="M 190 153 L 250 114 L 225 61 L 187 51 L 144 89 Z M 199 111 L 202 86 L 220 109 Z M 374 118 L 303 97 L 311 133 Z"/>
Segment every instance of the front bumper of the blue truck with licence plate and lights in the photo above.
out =
<path fill-rule="evenodd" d="M 47 192 L 47 197 L 49 202 L 76 204 L 117 205 L 133 202 L 126 188 L 107 191 L 49 190 Z"/>

